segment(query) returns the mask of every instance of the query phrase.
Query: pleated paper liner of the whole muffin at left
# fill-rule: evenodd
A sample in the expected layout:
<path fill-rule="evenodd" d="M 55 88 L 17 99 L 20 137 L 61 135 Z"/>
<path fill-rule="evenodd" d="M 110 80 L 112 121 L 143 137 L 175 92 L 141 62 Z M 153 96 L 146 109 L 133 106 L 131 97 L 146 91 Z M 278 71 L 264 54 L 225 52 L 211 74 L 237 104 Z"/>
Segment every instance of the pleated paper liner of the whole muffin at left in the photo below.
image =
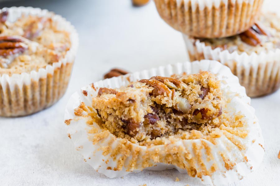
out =
<path fill-rule="evenodd" d="M 77 53 L 78 34 L 70 22 L 60 15 L 32 7 L 11 7 L 8 21 L 16 21 L 21 15 L 50 17 L 57 29 L 70 33 L 71 48 L 64 58 L 45 68 L 30 73 L 0 75 L 0 116 L 23 116 L 35 113 L 57 102 L 65 93 Z"/>

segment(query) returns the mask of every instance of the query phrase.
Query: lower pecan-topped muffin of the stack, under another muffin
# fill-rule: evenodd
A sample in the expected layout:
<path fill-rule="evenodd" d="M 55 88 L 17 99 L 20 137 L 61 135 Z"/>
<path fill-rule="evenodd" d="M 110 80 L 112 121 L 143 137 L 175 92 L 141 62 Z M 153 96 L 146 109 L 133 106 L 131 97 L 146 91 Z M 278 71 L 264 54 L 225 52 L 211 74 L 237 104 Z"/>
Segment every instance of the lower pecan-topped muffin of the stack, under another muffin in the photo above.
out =
<path fill-rule="evenodd" d="M 184 35 L 190 60 L 212 59 L 225 64 L 250 97 L 272 93 L 280 87 L 279 22 L 276 14 L 267 13 L 247 31 L 229 38 Z"/>

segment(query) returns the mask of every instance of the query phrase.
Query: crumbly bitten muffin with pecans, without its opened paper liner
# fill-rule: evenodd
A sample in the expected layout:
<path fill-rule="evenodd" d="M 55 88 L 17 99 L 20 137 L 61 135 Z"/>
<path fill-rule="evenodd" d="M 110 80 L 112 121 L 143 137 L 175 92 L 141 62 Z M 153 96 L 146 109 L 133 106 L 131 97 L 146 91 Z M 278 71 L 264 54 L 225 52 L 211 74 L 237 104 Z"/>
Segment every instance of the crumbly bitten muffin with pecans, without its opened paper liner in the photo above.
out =
<path fill-rule="evenodd" d="M 227 101 L 221 82 L 210 72 L 155 76 L 124 88 L 100 88 L 89 123 L 140 145 L 182 134 L 215 136 L 224 127 L 243 126 L 243 116 L 223 111 Z M 75 115 L 84 107 L 76 108 Z"/>

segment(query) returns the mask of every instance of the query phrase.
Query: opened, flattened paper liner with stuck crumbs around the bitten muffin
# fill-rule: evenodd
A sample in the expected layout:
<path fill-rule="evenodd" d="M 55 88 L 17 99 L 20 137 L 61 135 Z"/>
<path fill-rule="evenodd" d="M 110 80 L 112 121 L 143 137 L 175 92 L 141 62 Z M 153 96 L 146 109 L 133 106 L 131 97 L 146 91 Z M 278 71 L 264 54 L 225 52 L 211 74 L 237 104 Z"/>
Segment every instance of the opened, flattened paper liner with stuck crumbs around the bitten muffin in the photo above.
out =
<path fill-rule="evenodd" d="M 200 71 L 216 74 L 221 80 L 224 96 L 232 98 L 227 108 L 223 109 L 228 109 L 232 114 L 240 112 L 245 115 L 249 132 L 247 137 L 243 139 L 230 135 L 236 139 L 237 144 L 245 147 L 243 150 L 226 135 L 215 138 L 216 145 L 205 139 L 176 140 L 177 138 L 170 136 L 165 144 L 140 146 L 127 139 L 117 138 L 95 122 L 89 124 L 91 117 L 88 113 L 92 109 L 92 98 L 97 95 L 100 87 L 117 88 L 156 75 L 169 77 L 172 74 L 193 74 Z M 81 107 L 81 103 L 84 106 Z M 83 110 L 77 116 L 75 110 L 79 105 Z M 143 169 L 175 168 L 181 173 L 188 172 L 189 175 L 199 177 L 204 184 L 226 184 L 242 179 L 255 170 L 264 156 L 264 139 L 254 108 L 250 106 L 250 98 L 230 69 L 217 61 L 178 63 L 92 83 L 71 96 L 65 110 L 65 124 L 68 137 L 82 154 L 84 161 L 110 178 L 122 177 Z M 223 155 L 221 152 L 224 152 Z M 232 167 L 228 168 L 227 165 L 231 163 Z M 211 168 L 213 166 L 214 170 Z M 209 174 L 207 170 L 212 170 L 212 173 Z"/>

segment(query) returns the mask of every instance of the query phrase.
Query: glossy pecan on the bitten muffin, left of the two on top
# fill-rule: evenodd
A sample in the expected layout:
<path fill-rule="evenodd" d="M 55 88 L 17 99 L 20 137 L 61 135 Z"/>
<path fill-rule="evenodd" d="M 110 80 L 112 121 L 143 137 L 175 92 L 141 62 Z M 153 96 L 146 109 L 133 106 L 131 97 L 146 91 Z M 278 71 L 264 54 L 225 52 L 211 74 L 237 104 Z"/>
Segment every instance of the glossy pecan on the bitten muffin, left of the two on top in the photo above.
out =
<path fill-rule="evenodd" d="M 149 86 L 152 86 L 154 89 L 152 91 L 153 96 L 164 95 L 166 93 L 167 96 L 172 95 L 170 89 L 162 82 L 156 79 L 142 79 L 139 82 L 146 83 Z"/>

